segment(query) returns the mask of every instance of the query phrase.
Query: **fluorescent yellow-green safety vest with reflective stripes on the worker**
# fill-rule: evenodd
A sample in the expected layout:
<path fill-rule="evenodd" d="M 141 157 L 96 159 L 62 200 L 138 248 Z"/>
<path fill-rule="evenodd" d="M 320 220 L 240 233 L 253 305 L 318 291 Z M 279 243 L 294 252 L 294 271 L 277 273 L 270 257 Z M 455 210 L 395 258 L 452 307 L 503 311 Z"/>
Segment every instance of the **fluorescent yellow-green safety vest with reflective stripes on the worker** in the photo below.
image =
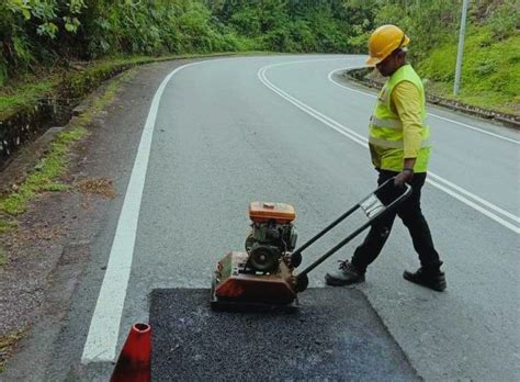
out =
<path fill-rule="evenodd" d="M 394 87 L 402 82 L 414 83 L 420 93 L 422 117 L 421 148 L 414 166 L 415 172 L 426 172 L 430 156 L 430 127 L 426 124 L 425 88 L 414 68 L 406 64 L 397 69 L 385 82 L 377 97 L 377 103 L 370 119 L 369 145 L 374 166 L 382 170 L 403 171 L 404 141 L 403 123 L 391 108 Z"/>

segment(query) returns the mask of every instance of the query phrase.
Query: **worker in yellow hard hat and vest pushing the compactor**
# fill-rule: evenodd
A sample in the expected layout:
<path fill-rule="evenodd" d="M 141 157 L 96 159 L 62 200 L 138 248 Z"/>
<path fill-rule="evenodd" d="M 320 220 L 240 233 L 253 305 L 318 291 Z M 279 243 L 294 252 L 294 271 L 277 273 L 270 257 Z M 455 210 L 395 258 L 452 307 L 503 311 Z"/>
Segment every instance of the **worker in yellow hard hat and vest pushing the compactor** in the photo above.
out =
<path fill-rule="evenodd" d="M 364 281 L 366 267 L 380 255 L 388 238 L 396 214 L 408 228 L 421 267 L 403 277 L 436 291 L 446 288 L 442 261 L 433 247 L 428 223 L 420 209 L 421 188 L 427 177 L 430 156 L 430 130 L 425 122 L 422 82 L 406 60 L 408 36 L 395 25 L 376 29 L 369 41 L 366 64 L 388 77 L 370 119 L 369 147 L 378 172 L 377 183 L 394 178 L 395 187 L 384 188 L 383 203 L 403 193 L 404 183 L 412 191 L 394 212 L 376 218 L 364 241 L 355 249 L 351 261 L 340 261 L 339 270 L 326 274 L 329 285 L 347 285 Z"/>

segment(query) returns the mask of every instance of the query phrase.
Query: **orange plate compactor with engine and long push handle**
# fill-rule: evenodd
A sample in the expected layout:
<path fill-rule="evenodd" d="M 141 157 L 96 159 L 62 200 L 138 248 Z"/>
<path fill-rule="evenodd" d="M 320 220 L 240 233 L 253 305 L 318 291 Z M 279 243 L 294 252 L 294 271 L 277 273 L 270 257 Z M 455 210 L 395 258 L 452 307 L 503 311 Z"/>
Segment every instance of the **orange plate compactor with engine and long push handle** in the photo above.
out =
<path fill-rule="evenodd" d="M 394 179 L 381 184 L 296 250 L 297 232 L 293 225 L 296 214 L 293 206 L 283 203 L 250 203 L 249 217 L 252 223 L 245 251 L 230 251 L 217 262 L 211 289 L 212 307 L 297 306 L 297 293 L 308 286 L 308 272 L 366 229 L 376 218 L 396 209 L 411 193 L 411 188 L 405 184 L 397 193 L 392 190 L 389 194 L 396 196 L 388 201 L 385 196 L 388 195 L 388 188 L 395 188 Z M 368 217 L 364 224 L 296 273 L 295 269 L 302 263 L 303 250 L 359 209 Z"/>

